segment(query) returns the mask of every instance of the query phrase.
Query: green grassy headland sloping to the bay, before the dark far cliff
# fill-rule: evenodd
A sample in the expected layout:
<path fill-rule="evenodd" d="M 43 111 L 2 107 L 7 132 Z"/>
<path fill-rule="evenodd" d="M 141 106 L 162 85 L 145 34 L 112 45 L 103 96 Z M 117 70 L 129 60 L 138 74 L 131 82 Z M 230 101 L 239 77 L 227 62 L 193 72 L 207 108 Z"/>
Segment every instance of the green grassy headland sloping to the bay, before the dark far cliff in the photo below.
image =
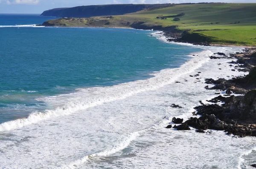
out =
<path fill-rule="evenodd" d="M 256 46 L 256 3 L 172 4 L 125 15 L 60 18 L 43 25 L 154 29 L 180 33 L 187 42 Z"/>

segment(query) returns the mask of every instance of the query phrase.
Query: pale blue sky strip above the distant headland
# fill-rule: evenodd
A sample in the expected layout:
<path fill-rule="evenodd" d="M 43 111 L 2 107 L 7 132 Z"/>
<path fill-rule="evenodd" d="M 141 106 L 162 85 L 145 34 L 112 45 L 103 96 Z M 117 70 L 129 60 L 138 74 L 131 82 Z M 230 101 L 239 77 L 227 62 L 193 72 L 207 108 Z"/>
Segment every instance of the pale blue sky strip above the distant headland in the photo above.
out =
<path fill-rule="evenodd" d="M 255 0 L 0 0 L 0 13 L 41 14 L 52 8 L 118 3 L 255 3 Z"/>

